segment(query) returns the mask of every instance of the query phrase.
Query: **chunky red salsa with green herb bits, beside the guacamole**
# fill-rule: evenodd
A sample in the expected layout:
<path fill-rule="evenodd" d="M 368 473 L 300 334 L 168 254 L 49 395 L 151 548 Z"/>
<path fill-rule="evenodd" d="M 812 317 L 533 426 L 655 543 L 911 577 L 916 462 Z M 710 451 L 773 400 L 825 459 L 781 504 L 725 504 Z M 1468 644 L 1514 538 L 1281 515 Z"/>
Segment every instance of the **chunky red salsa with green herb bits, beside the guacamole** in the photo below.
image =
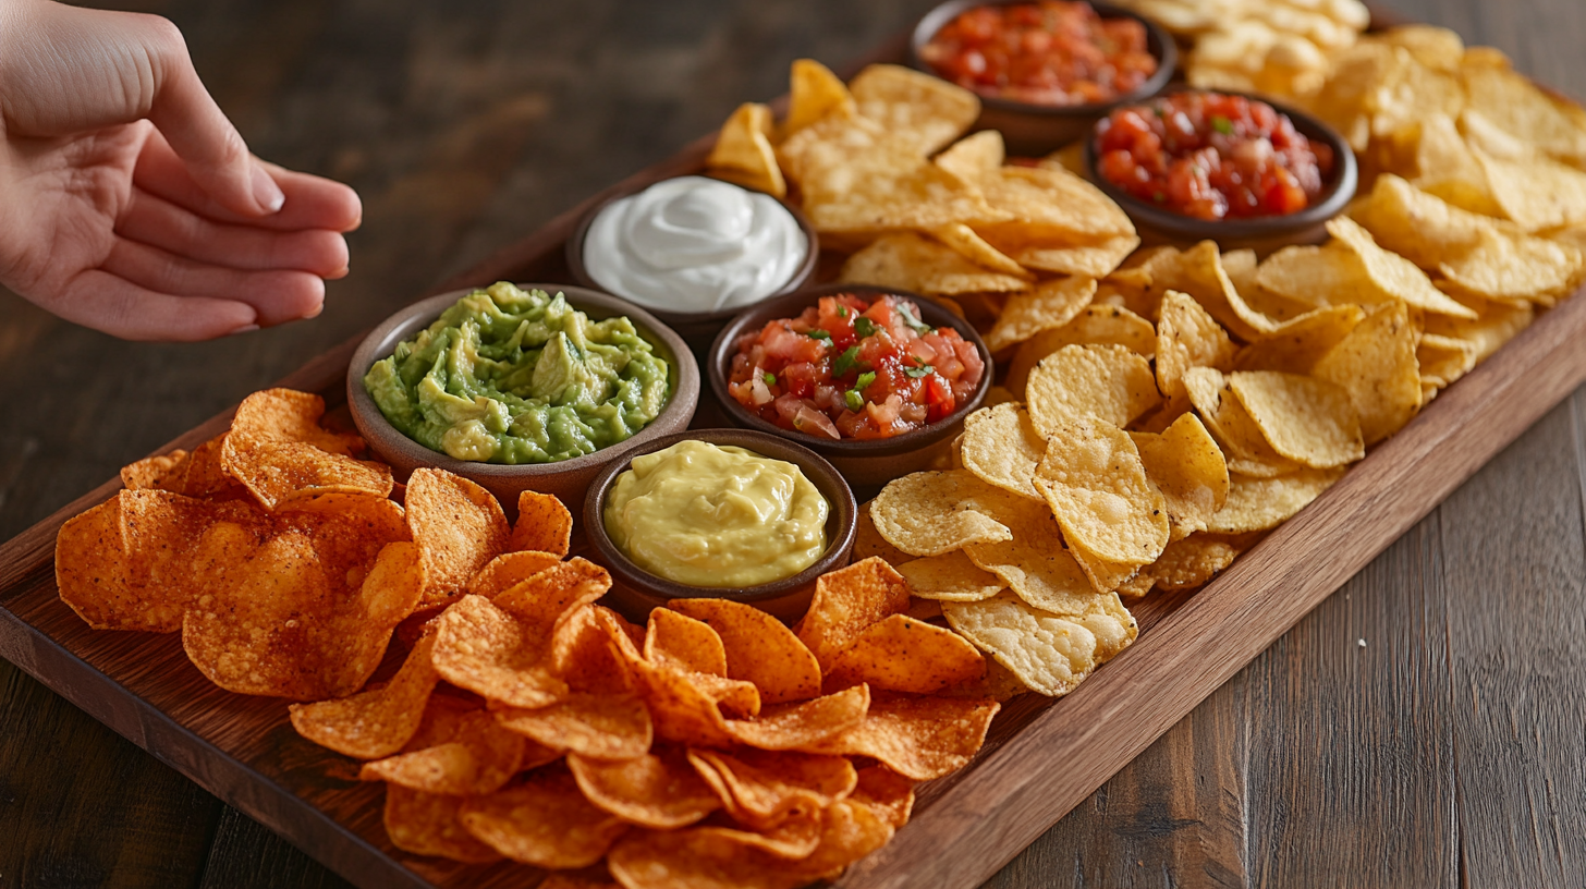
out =
<path fill-rule="evenodd" d="M 983 373 L 975 344 L 912 302 L 837 294 L 739 337 L 728 392 L 782 429 L 890 438 L 945 419 Z"/>

